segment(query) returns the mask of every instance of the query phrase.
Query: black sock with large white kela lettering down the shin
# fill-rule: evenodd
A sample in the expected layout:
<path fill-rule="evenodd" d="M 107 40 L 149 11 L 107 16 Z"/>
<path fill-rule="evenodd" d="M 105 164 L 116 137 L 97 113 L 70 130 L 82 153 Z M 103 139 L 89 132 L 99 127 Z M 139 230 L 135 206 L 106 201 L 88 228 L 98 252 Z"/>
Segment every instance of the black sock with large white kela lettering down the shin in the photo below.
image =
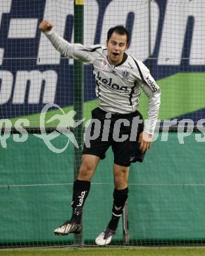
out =
<path fill-rule="evenodd" d="M 83 205 L 90 191 L 89 181 L 75 181 L 73 183 L 73 201 L 71 203 L 73 207 L 73 215 L 71 221 L 79 224 L 81 223 L 81 217 L 83 214 Z"/>

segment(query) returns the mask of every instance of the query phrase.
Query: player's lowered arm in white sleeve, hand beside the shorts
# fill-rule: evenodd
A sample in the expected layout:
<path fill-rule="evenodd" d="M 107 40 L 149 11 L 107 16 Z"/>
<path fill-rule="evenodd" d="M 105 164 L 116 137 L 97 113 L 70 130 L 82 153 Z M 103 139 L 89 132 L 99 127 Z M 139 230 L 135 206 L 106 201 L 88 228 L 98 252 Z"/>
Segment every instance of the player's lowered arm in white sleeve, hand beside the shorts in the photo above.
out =
<path fill-rule="evenodd" d="M 143 133 L 140 134 L 139 138 L 141 152 L 145 152 L 151 148 L 151 141 L 157 124 L 158 110 L 160 106 L 160 88 L 149 73 L 149 70 L 142 63 L 140 64 L 140 71 L 141 89 L 149 99 L 147 120 L 145 121 Z"/>

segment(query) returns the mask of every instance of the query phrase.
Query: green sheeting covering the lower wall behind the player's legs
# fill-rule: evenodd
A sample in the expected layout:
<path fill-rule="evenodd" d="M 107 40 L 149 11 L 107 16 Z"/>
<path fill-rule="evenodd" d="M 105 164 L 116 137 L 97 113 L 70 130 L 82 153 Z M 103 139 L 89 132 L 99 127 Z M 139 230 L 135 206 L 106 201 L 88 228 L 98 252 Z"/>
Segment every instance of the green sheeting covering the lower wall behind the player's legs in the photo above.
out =
<path fill-rule="evenodd" d="M 128 222 L 130 243 L 202 242 L 204 226 L 204 153 L 195 133 L 179 144 L 177 133 L 160 136 L 144 163 L 130 169 Z M 63 146 L 66 137 L 55 139 Z M 84 207 L 84 241 L 92 244 L 111 216 L 113 156 L 107 152 L 92 180 Z M 71 215 L 73 146 L 62 154 L 48 150 L 29 135 L 24 143 L 12 136 L 1 148 L 0 244 L 69 244 L 73 235 L 52 233 Z M 113 242 L 123 242 L 122 224 Z"/>

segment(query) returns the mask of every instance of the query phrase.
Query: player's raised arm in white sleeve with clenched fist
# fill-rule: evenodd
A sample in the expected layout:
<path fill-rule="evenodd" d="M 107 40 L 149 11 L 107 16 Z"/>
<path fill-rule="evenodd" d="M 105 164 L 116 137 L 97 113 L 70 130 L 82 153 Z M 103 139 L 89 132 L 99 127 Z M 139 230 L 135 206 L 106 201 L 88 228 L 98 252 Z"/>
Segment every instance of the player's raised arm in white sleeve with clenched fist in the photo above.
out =
<path fill-rule="evenodd" d="M 43 22 L 39 24 L 39 30 L 45 33 L 55 49 L 65 57 L 75 58 L 88 63 L 92 63 L 95 60 L 96 53 L 89 51 L 90 49 L 79 43 L 69 43 L 63 37 L 60 37 L 56 32 L 54 32 L 52 28 L 52 23 L 48 20 L 43 20 Z"/>

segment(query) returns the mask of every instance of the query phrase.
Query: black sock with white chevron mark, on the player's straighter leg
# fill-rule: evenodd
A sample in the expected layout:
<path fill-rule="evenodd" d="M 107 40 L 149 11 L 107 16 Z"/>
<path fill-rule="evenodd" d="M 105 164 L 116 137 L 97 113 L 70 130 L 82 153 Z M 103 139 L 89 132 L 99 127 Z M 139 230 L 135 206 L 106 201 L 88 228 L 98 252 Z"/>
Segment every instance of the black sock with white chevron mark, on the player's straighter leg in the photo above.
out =
<path fill-rule="evenodd" d="M 121 218 L 122 211 L 124 209 L 124 204 L 128 198 L 128 188 L 122 190 L 117 190 L 115 188 L 113 192 L 113 209 L 111 221 L 109 221 L 108 228 L 115 231 L 117 229 L 119 219 Z"/>

